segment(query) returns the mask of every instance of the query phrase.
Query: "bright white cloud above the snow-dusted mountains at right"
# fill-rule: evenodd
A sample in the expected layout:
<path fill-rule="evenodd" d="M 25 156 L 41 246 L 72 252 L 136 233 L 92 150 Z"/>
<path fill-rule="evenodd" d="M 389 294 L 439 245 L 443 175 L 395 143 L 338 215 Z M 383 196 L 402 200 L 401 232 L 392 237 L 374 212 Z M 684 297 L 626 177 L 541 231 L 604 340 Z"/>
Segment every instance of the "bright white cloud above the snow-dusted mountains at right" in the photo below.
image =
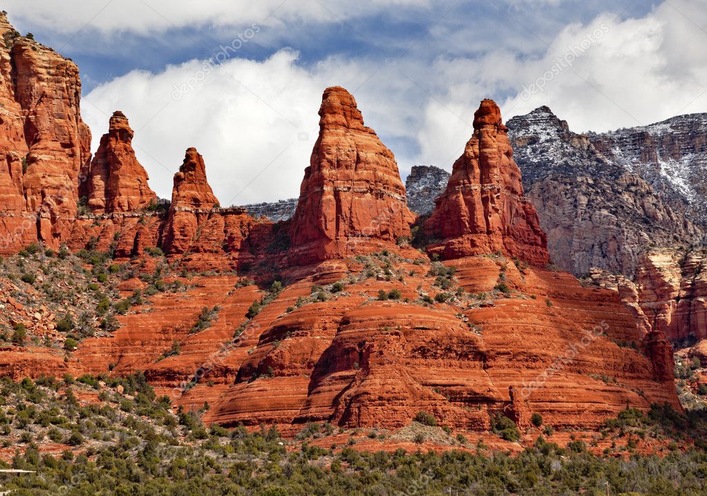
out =
<path fill-rule="evenodd" d="M 700 28 L 703 25 L 707 25 L 703 1 L 671 0 L 643 18 L 599 16 L 588 25 L 568 26 L 545 57 L 520 64 L 523 84 L 542 77 L 556 57 L 587 45 L 592 33 L 605 33 L 542 92 L 527 100 L 522 93 L 509 98 L 503 109 L 519 114 L 548 105 L 578 131 L 605 131 L 705 112 L 707 32 Z"/>

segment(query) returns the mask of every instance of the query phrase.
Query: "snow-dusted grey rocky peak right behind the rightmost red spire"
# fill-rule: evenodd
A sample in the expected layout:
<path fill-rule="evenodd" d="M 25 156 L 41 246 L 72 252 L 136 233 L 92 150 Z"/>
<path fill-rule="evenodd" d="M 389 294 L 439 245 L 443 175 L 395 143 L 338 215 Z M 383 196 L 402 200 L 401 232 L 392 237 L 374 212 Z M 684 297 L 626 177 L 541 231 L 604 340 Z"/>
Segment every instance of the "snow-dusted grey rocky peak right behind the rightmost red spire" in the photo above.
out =
<path fill-rule="evenodd" d="M 573 133 L 547 107 L 513 117 L 508 129 L 527 196 L 561 268 L 582 275 L 597 267 L 633 278 L 646 248 L 703 237 L 688 199 L 656 189 L 641 167 L 597 149 L 608 135 Z"/>

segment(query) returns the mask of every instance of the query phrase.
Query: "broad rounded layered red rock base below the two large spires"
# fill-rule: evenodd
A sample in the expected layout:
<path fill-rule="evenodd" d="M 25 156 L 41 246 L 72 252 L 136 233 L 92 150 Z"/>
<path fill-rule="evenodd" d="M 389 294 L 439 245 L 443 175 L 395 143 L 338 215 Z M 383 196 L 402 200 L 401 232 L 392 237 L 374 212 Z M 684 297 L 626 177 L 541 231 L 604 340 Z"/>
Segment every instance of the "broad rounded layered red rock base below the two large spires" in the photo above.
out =
<path fill-rule="evenodd" d="M 679 408 L 666 372 L 670 344 L 645 341 L 648 356 L 617 345 L 641 343 L 641 332 L 616 292 L 583 288 L 567 273 L 521 273 L 501 260 L 454 262 L 464 287 L 491 295 L 504 273 L 518 292 L 477 300 L 469 309 L 464 301 L 434 308 L 373 301 L 381 288 L 399 287 L 411 298 L 415 293 L 406 288 L 439 291 L 433 278 L 406 276 L 404 285 L 363 279 L 334 300 L 278 315 L 293 295 L 309 292 L 312 279 L 299 281 L 259 321 L 257 346 L 250 341 L 234 352 L 243 360 L 236 384 L 209 400 L 206 421 L 402 427 L 426 411 L 443 425 L 486 430 L 489 415 L 504 411 L 521 427 L 532 411 L 556 427 L 595 427 L 627 403 L 647 410 L 667 401 Z M 351 265 L 339 270 L 327 281 L 356 273 Z M 200 391 L 209 388 L 197 386 L 189 397 Z"/>

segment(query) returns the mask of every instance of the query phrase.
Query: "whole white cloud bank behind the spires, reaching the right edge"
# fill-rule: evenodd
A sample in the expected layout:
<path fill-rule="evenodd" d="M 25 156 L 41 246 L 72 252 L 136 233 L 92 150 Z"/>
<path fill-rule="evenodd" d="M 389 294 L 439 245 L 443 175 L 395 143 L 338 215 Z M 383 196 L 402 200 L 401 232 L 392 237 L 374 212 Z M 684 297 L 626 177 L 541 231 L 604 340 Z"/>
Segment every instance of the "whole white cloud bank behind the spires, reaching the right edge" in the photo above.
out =
<path fill-rule="evenodd" d="M 395 152 L 403 175 L 414 163 L 449 170 L 472 134 L 482 98 L 496 98 L 506 119 L 548 105 L 575 131 L 706 112 L 707 33 L 700 26 L 707 24 L 707 12 L 700 3 L 671 0 L 642 18 L 603 14 L 568 25 L 540 57 L 521 57 L 500 43 L 474 57 L 431 63 L 409 54 L 393 64 L 329 57 L 305 66 L 296 52 L 281 49 L 264 61 L 228 59 L 174 101 L 175 85 L 203 66 L 189 61 L 100 85 L 86 95 L 83 114 L 94 143 L 110 112 L 127 114 L 136 129 L 136 153 L 151 185 L 165 197 L 188 146 L 204 155 L 224 205 L 297 196 L 317 135 L 322 90 L 336 84 L 354 93 L 366 123 Z M 569 47 L 580 48 L 571 67 L 548 76 Z M 528 98 L 524 85 L 539 78 L 547 80 L 543 90 Z M 308 139 L 300 141 L 300 133 Z"/>

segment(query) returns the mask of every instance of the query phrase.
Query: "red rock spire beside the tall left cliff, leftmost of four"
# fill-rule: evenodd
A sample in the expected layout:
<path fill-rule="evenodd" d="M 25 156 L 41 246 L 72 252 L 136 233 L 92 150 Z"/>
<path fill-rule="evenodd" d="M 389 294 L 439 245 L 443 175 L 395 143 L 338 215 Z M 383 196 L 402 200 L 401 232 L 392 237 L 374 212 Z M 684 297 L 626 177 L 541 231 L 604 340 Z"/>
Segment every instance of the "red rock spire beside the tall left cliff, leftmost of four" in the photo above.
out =
<path fill-rule="evenodd" d="M 92 212 L 134 212 L 157 201 L 147 184 L 147 172 L 135 157 L 132 138 L 127 117 L 115 112 L 108 133 L 100 138 L 84 183 Z"/>

